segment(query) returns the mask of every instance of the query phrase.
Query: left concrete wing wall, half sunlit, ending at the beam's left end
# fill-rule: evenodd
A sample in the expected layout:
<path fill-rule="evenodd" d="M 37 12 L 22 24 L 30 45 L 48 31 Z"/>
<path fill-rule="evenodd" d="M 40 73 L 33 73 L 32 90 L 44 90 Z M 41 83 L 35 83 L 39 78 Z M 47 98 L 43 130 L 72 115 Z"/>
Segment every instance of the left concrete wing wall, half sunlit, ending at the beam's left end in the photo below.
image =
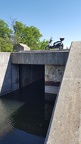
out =
<path fill-rule="evenodd" d="M 0 52 L 0 95 L 11 91 L 10 53 Z"/>

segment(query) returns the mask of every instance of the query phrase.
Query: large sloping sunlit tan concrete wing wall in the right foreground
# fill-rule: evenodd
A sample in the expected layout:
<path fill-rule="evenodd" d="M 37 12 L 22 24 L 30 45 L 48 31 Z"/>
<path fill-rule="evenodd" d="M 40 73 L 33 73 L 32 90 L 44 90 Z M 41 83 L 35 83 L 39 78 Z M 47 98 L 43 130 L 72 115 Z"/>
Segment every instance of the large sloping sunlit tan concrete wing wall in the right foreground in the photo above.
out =
<path fill-rule="evenodd" d="M 81 42 L 71 45 L 45 144 L 81 144 Z"/>

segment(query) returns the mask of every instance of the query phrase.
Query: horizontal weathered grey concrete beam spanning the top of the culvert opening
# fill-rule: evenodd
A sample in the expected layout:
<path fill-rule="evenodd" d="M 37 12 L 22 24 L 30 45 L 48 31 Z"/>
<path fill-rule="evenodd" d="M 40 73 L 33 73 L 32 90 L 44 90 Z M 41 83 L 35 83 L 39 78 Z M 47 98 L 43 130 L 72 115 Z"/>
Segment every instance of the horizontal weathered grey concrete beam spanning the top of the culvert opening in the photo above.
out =
<path fill-rule="evenodd" d="M 69 50 L 24 51 L 12 53 L 13 64 L 55 64 L 65 65 Z"/>

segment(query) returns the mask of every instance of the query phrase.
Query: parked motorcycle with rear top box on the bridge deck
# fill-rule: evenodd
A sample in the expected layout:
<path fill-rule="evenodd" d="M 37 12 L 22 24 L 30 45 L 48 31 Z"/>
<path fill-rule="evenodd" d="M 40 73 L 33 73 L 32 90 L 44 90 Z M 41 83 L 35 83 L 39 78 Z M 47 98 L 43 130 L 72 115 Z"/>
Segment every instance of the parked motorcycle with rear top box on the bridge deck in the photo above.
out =
<path fill-rule="evenodd" d="M 52 37 L 51 37 L 50 40 L 49 40 L 49 42 L 48 42 L 48 44 L 46 45 L 45 49 L 49 50 L 49 49 L 59 48 L 59 50 L 61 50 L 61 49 L 63 49 L 63 43 L 62 43 L 63 40 L 64 40 L 64 38 L 61 37 L 60 41 L 56 41 L 52 45 L 51 42 L 53 40 L 52 40 Z"/>

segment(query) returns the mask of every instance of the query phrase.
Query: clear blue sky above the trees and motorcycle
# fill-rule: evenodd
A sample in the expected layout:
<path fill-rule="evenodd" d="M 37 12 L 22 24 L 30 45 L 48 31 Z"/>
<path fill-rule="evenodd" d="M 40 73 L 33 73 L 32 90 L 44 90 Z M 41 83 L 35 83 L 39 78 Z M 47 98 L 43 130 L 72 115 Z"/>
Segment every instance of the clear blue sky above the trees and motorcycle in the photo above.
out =
<path fill-rule="evenodd" d="M 36 26 L 43 39 L 65 37 L 64 45 L 81 40 L 81 0 L 1 0 L 0 19 Z"/>

